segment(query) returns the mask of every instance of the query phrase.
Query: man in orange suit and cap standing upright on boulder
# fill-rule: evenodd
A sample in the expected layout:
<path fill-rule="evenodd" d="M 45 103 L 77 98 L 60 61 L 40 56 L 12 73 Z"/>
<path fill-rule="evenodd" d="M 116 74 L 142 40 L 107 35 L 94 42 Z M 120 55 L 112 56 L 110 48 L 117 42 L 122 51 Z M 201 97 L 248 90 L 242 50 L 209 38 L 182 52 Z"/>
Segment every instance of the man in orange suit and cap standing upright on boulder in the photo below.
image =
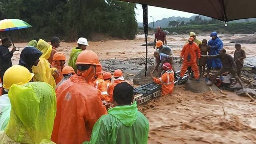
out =
<path fill-rule="evenodd" d="M 201 58 L 199 46 L 194 43 L 194 38 L 189 38 L 189 43 L 185 44 L 181 50 L 180 60 L 183 58 L 183 64 L 180 70 L 180 79 L 184 77 L 186 70 L 189 66 L 191 66 L 192 70 L 194 71 L 194 76 L 197 82 L 199 80 L 199 70 L 198 70 L 198 62 Z"/>

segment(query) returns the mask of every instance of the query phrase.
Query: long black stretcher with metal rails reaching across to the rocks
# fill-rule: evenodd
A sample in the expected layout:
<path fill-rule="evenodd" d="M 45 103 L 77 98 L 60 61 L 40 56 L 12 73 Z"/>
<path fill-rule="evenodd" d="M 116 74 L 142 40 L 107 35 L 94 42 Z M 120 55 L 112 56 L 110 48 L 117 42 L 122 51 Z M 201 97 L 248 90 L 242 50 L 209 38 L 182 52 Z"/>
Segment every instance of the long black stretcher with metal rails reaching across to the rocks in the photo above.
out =
<path fill-rule="evenodd" d="M 185 76 L 179 80 L 180 70 L 176 71 L 176 76 L 178 80 L 174 81 L 174 85 L 182 84 L 189 78 L 189 75 L 185 74 Z M 134 89 L 134 95 L 134 101 L 136 101 L 137 104 L 145 103 L 153 98 L 161 96 L 161 85 L 158 85 L 154 82 L 142 85 Z"/>

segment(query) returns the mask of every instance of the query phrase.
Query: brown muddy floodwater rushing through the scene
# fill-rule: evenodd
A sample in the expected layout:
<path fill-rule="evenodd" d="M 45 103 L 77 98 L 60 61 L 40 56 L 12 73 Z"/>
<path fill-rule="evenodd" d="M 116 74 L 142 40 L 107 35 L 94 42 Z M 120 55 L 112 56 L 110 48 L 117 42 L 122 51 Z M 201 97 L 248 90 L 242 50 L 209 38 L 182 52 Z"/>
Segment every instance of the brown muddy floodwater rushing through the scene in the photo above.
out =
<path fill-rule="evenodd" d="M 221 39 L 239 37 L 234 35 Z M 197 38 L 210 40 L 209 35 Z M 167 45 L 171 46 L 175 56 L 179 56 L 187 39 L 187 35 L 167 36 Z M 154 37 L 149 36 L 148 40 L 154 41 Z M 223 41 L 224 48 L 233 56 L 235 44 L 229 42 Z M 15 43 L 21 50 L 26 44 Z M 101 63 L 104 63 L 104 70 L 113 72 L 120 68 L 127 73 L 125 78 L 131 83 L 132 75 L 144 68 L 143 35 L 138 35 L 135 40 L 89 41 L 89 44 L 87 50 L 98 54 Z M 77 43 L 61 42 L 57 50 L 69 59 L 74 46 Z M 256 56 L 256 44 L 241 46 L 247 57 Z M 148 50 L 149 57 L 153 57 L 153 47 L 148 47 Z M 20 52 L 14 53 L 13 64 L 18 63 Z M 250 102 L 249 98 L 237 96 L 234 92 L 198 94 L 185 91 L 184 87 L 175 86 L 173 95 L 138 107 L 150 123 L 149 144 L 256 144 L 256 102 Z"/>

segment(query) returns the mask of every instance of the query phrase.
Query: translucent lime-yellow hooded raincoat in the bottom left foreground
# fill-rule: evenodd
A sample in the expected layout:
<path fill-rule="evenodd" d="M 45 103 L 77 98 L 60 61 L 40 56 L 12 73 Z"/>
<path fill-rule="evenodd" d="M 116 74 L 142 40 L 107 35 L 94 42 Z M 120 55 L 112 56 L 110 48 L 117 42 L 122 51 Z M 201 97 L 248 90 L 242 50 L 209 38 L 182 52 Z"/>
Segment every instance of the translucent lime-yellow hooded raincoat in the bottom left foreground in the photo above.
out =
<path fill-rule="evenodd" d="M 5 133 L 24 144 L 51 142 L 56 115 L 56 94 L 44 82 L 13 84 L 8 92 L 12 105 Z"/>

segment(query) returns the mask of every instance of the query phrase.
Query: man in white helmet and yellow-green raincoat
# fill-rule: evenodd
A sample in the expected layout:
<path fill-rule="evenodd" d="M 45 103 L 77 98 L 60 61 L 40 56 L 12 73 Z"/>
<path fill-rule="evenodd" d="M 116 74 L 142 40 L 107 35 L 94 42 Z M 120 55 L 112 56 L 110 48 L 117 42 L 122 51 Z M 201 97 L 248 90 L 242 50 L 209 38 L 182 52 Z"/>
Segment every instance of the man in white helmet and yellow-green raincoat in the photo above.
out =
<path fill-rule="evenodd" d="M 86 38 L 79 38 L 78 41 L 78 47 L 73 47 L 70 58 L 68 60 L 68 66 L 71 66 L 74 68 L 76 74 L 77 74 L 77 67 L 76 67 L 76 60 L 78 55 L 86 49 L 87 46 L 89 46 L 88 41 Z"/>

